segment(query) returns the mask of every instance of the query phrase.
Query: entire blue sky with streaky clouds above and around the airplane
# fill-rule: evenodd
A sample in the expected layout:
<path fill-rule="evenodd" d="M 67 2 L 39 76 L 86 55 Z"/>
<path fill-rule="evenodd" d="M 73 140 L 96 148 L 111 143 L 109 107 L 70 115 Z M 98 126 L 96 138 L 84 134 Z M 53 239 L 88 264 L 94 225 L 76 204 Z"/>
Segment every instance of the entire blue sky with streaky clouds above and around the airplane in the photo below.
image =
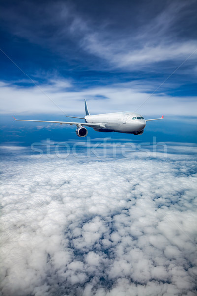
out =
<path fill-rule="evenodd" d="M 11 115 L 84 115 L 84 98 L 93 114 L 134 111 L 180 66 L 138 112 L 167 120 L 147 132 L 196 142 L 196 15 L 193 0 L 1 1 L 0 48 L 40 87 L 0 52 L 3 130 Z"/>

